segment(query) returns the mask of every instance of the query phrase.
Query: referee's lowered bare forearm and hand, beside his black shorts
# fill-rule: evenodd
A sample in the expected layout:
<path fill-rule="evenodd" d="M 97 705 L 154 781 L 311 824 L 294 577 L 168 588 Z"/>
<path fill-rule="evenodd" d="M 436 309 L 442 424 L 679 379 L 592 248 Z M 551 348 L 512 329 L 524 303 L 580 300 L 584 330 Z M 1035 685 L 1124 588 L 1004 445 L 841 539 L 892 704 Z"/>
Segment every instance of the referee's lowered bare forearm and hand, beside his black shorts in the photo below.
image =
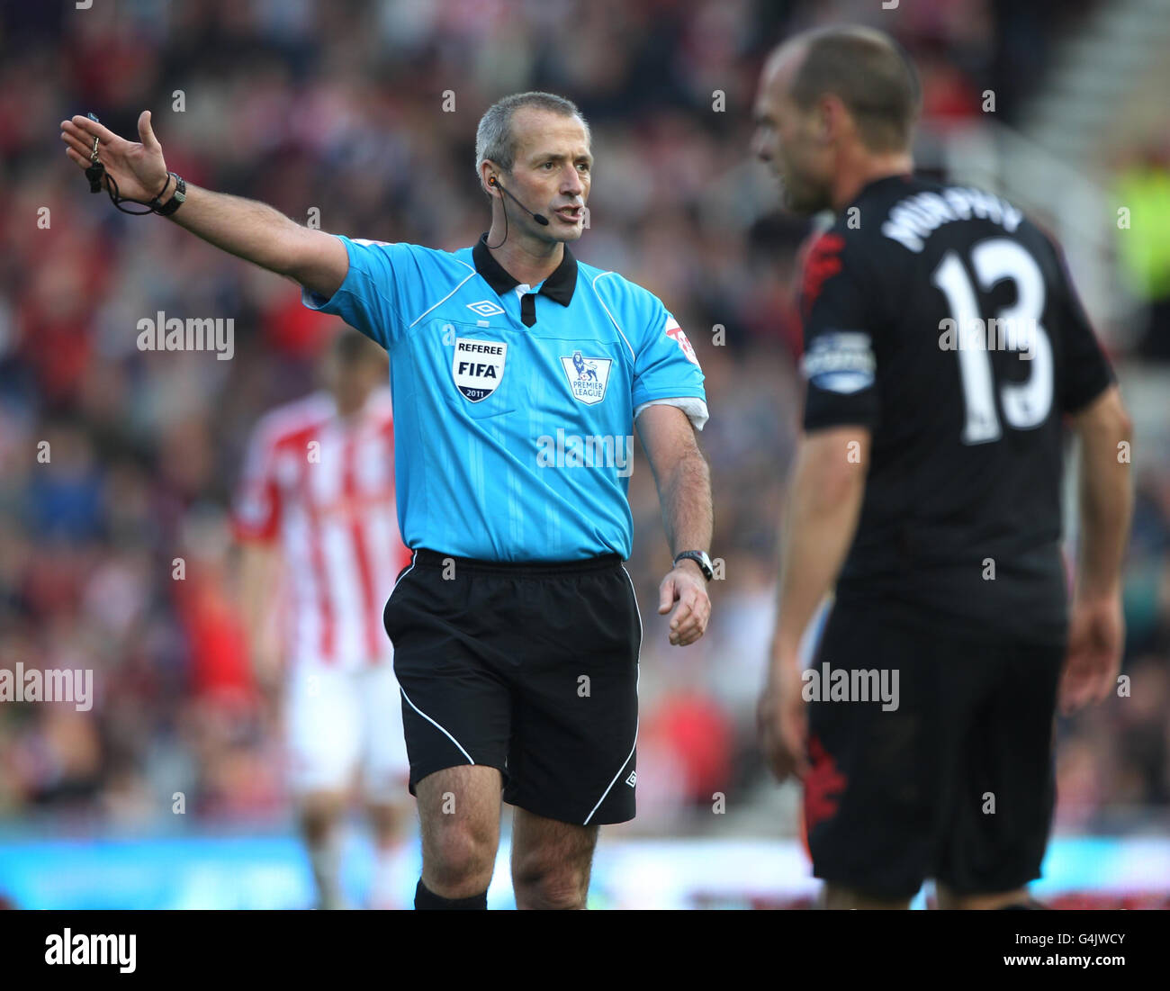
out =
<path fill-rule="evenodd" d="M 670 556 L 711 546 L 711 474 L 695 442 L 695 428 L 677 406 L 648 406 L 638 418 L 638 433 L 654 473 Z M 683 559 L 659 586 L 659 613 L 670 611 L 670 642 L 684 647 L 707 629 L 711 601 L 707 579 L 695 562 Z"/>

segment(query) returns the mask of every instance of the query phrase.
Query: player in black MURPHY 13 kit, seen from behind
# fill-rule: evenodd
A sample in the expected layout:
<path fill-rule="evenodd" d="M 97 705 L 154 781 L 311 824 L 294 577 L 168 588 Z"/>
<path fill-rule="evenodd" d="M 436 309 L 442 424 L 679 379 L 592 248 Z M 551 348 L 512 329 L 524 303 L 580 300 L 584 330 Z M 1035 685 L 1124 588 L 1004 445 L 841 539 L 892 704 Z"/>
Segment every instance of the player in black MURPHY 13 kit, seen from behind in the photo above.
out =
<path fill-rule="evenodd" d="M 798 35 L 760 81 L 755 147 L 786 205 L 837 214 L 805 268 L 805 435 L 760 731 L 775 773 L 804 779 L 828 907 L 906 908 L 932 876 L 943 908 L 1023 908 L 1058 687 L 1065 711 L 1115 689 L 1130 425 L 1055 245 L 998 197 L 913 177 L 920 98 L 904 54 L 861 28 Z M 893 708 L 826 688 L 806 709 L 798 645 L 834 581 L 813 667 L 896 673 Z"/>

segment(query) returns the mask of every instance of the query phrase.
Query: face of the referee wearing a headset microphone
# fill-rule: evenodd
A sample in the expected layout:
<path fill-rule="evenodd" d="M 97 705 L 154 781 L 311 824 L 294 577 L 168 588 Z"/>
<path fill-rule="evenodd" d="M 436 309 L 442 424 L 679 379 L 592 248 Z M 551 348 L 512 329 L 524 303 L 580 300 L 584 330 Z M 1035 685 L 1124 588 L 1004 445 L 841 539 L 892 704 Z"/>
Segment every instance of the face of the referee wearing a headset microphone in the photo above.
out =
<path fill-rule="evenodd" d="M 509 191 L 534 213 L 543 213 L 543 227 L 522 211 L 509 216 L 525 233 L 543 241 L 576 241 L 585 229 L 593 156 L 585 125 L 578 117 L 524 106 L 512 115 L 516 157 Z"/>

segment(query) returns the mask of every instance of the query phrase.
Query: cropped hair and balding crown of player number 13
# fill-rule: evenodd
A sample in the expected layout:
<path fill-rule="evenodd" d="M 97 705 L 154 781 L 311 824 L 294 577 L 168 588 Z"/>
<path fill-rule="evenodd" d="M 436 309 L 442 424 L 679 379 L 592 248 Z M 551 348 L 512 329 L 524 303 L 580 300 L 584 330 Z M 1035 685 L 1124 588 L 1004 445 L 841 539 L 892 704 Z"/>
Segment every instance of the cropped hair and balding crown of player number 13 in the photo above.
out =
<path fill-rule="evenodd" d="M 803 32 L 777 46 L 764 64 L 760 90 L 811 110 L 837 96 L 870 151 L 910 145 L 921 108 L 918 74 L 888 34 L 855 25 Z"/>

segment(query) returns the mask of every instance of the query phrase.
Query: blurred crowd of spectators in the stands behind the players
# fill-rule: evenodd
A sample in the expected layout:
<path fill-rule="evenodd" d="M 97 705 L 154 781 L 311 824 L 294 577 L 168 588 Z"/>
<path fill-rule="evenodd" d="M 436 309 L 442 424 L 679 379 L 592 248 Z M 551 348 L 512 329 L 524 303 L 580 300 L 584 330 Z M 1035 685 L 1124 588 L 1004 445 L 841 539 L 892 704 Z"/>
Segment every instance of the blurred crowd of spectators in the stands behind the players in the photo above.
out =
<path fill-rule="evenodd" d="M 724 577 L 709 635 L 687 651 L 667 645 L 651 605 L 669 558 L 645 461 L 632 479 L 629 567 L 646 620 L 639 827 L 706 828 L 695 810 L 709 812 L 715 792 L 729 819 L 766 800 L 753 702 L 799 421 L 793 275 L 810 227 L 776 213 L 748 156 L 762 59 L 785 30 L 868 12 L 915 55 L 925 133 L 937 135 L 978 117 L 987 87 L 1011 119 L 1086 5 L 903 0 L 880 18 L 875 6 L 6 8 L 0 666 L 92 668 L 97 697 L 89 711 L 0 708 L 0 819 L 159 824 L 180 800 L 215 821 L 284 813 L 280 713 L 250 673 L 226 511 L 257 417 L 315 387 L 337 326 L 291 283 L 90 197 L 57 123 L 91 110 L 132 137 L 150 109 L 168 167 L 190 181 L 325 230 L 457 248 L 488 223 L 475 125 L 524 89 L 569 96 L 592 125 L 591 228 L 576 253 L 659 295 L 707 374 L 701 441 Z M 158 311 L 234 318 L 234 357 L 139 351 L 137 323 Z M 1151 454 L 1127 570 L 1131 694 L 1061 723 L 1071 827 L 1170 803 L 1170 453 Z"/>

